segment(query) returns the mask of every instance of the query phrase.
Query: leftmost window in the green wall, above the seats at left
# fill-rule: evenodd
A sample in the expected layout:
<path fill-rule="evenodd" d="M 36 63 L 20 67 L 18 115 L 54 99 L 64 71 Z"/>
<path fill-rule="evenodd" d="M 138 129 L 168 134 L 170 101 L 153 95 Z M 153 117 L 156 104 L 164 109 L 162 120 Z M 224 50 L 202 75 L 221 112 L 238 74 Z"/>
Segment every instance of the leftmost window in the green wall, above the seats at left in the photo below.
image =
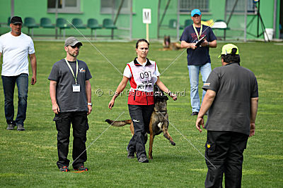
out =
<path fill-rule="evenodd" d="M 58 13 L 81 13 L 81 0 L 47 0 L 47 12 L 56 12 L 56 1 L 58 2 Z"/>

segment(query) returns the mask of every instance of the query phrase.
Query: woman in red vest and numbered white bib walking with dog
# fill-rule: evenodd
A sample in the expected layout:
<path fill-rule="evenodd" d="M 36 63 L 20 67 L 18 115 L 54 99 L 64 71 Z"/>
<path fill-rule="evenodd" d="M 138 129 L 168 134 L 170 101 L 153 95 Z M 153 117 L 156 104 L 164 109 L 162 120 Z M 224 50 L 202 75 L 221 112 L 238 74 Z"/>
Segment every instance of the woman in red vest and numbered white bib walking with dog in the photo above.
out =
<path fill-rule="evenodd" d="M 127 146 L 127 158 L 134 158 L 137 152 L 137 159 L 141 163 L 148 163 L 146 158 L 144 134 L 149 130 L 149 120 L 154 111 L 154 84 L 166 92 L 173 100 L 177 96 L 171 93 L 169 89 L 159 79 L 157 65 L 154 61 L 146 58 L 149 53 L 149 42 L 146 39 L 139 39 L 136 44 L 137 58 L 127 63 L 123 78 L 118 85 L 115 95 L 112 97 L 108 107 L 112 109 L 117 96 L 125 89 L 127 82 L 131 86 L 128 96 L 129 115 L 134 124 L 134 136 Z"/>

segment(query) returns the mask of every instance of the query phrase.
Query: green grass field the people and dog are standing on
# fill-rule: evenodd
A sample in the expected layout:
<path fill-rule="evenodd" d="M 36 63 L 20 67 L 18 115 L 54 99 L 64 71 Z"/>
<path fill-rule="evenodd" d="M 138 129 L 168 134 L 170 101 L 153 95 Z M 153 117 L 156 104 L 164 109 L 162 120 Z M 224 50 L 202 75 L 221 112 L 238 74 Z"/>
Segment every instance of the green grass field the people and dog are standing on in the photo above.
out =
<path fill-rule="evenodd" d="M 95 45 L 120 72 L 135 57 L 134 42 L 98 42 Z M 252 70 L 258 78 L 260 95 L 255 136 L 248 140 L 244 152 L 242 185 L 283 187 L 283 46 L 263 42 L 236 45 L 240 49 L 241 65 Z M 221 60 L 216 58 L 221 46 L 220 43 L 210 51 L 212 68 L 221 65 Z M 35 42 L 37 83 L 29 85 L 25 132 L 6 130 L 0 83 L 1 187 L 204 187 L 207 173 L 204 158 L 173 126 L 169 127 L 169 132 L 176 146 L 171 146 L 159 135 L 154 139 L 154 160 L 149 163 L 138 163 L 126 157 L 126 146 L 131 138 L 128 126 L 109 127 L 88 149 L 88 172 L 60 173 L 56 165 L 57 131 L 52 121 L 54 114 L 47 77 L 52 65 L 66 56 L 63 47 L 63 42 Z M 161 47 L 159 43 L 152 43 L 149 51 L 149 58 L 157 62 L 160 73 L 182 52 L 159 51 Z M 88 116 L 90 129 L 86 142 L 89 146 L 108 127 L 105 119 L 115 119 L 125 112 L 119 118 L 124 120 L 129 118 L 129 113 L 125 94 L 117 98 L 112 111 L 108 109 L 112 97 L 109 92 L 115 91 L 122 75 L 88 42 L 83 42 L 79 59 L 88 63 L 93 75 L 94 105 Z M 161 80 L 171 91 L 185 93 L 178 101 L 168 101 L 169 120 L 204 153 L 206 131 L 200 134 L 195 129 L 196 117 L 190 116 L 186 53 L 161 75 Z M 98 96 L 101 91 L 103 95 Z M 17 105 L 17 100 L 14 104 Z M 149 143 L 146 151 L 148 146 Z"/>

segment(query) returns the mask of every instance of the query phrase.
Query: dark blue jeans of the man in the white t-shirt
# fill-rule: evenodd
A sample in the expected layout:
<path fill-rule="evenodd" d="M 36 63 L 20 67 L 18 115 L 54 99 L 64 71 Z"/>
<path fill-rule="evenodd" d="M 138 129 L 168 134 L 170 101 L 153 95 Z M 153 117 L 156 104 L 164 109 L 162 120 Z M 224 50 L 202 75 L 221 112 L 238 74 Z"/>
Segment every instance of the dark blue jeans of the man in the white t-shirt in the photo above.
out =
<path fill-rule="evenodd" d="M 7 123 L 13 122 L 13 92 L 15 84 L 18 87 L 18 114 L 16 123 L 23 125 L 26 117 L 27 101 L 28 101 L 28 74 L 18 76 L 1 76 L 5 97 L 5 117 Z"/>

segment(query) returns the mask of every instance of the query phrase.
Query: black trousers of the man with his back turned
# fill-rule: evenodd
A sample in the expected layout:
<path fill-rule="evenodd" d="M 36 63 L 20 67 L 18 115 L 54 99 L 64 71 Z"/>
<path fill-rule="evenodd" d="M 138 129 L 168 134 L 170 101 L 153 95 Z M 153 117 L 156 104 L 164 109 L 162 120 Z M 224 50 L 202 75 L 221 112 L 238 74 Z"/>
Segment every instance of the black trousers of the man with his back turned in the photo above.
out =
<path fill-rule="evenodd" d="M 205 187 L 241 187 L 243 151 L 246 149 L 248 134 L 238 132 L 207 131 L 205 157 L 208 161 Z"/>

